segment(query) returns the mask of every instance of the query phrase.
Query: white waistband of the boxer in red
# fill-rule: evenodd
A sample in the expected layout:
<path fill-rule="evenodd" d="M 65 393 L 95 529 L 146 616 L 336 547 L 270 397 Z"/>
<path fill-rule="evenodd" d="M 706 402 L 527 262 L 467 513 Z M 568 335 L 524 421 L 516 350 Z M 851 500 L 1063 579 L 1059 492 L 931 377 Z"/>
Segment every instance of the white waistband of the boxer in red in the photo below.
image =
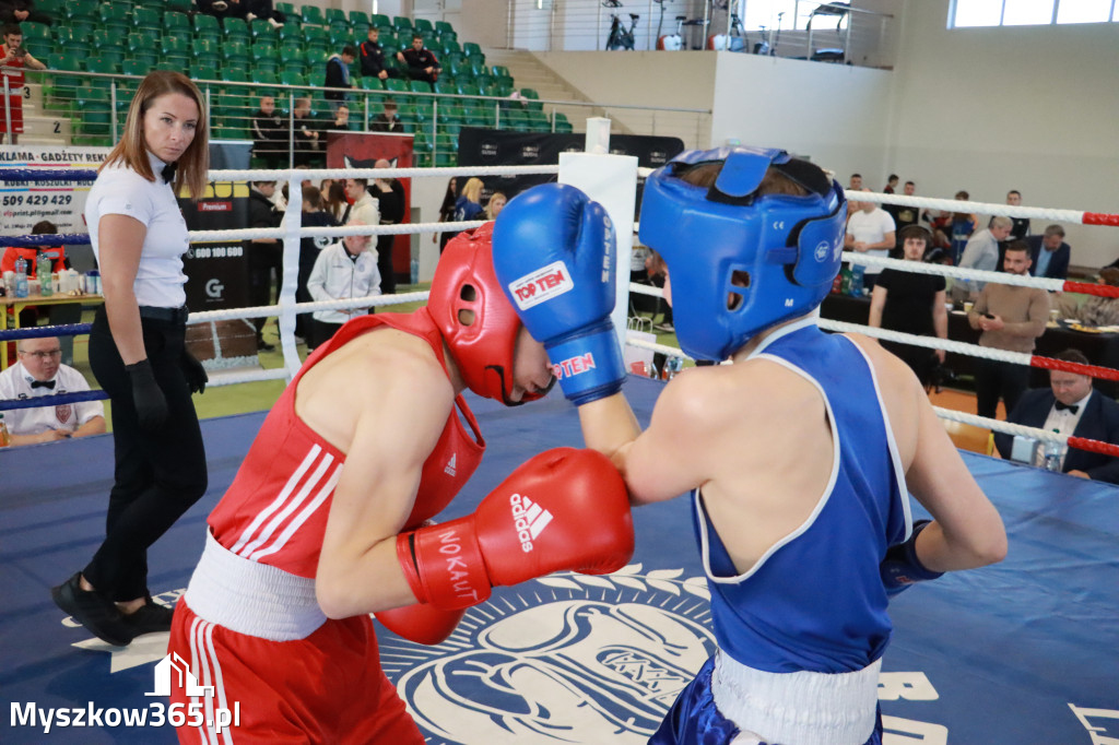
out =
<path fill-rule="evenodd" d="M 203 619 L 272 641 L 305 639 L 327 621 L 314 579 L 237 556 L 209 530 L 185 597 Z"/>

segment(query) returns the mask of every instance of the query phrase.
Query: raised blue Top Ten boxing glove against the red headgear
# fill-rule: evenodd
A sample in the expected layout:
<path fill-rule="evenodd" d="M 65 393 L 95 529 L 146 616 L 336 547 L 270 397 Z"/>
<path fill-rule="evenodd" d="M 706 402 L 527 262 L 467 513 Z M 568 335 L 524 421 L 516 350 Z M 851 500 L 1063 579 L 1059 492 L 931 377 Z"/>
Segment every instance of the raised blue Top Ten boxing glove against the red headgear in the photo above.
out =
<path fill-rule="evenodd" d="M 493 226 L 498 282 L 576 406 L 618 393 L 626 379 L 610 320 L 615 253 L 606 210 L 563 183 L 519 195 Z"/>

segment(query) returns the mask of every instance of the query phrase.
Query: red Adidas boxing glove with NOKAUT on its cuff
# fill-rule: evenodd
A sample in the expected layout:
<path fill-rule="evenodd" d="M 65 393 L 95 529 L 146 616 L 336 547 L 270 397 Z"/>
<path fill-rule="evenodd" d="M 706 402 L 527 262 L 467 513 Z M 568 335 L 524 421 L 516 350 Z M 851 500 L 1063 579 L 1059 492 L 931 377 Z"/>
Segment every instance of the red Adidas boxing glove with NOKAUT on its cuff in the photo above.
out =
<path fill-rule="evenodd" d="M 556 447 L 528 460 L 470 516 L 403 532 L 396 556 L 421 603 L 481 603 L 493 586 L 561 570 L 609 574 L 633 555 L 629 494 L 610 460 Z"/>

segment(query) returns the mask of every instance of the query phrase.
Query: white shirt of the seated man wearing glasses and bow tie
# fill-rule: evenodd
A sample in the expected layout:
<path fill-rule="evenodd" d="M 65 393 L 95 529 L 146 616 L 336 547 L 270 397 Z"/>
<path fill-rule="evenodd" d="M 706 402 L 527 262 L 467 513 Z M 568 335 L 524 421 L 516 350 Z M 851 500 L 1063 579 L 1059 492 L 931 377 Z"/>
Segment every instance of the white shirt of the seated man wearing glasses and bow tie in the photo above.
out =
<path fill-rule="evenodd" d="M 54 394 L 78 393 L 88 390 L 90 384 L 82 374 L 67 365 L 59 365 L 58 372 L 53 378 L 55 387 L 32 388 L 35 377 L 16 362 L 0 372 L 0 398 L 26 400 Z M 86 400 L 77 404 L 58 404 L 36 408 L 16 408 L 3 412 L 8 431 L 13 435 L 36 435 L 48 430 L 74 432 L 90 419 L 105 416 L 105 407 L 100 400 Z"/>

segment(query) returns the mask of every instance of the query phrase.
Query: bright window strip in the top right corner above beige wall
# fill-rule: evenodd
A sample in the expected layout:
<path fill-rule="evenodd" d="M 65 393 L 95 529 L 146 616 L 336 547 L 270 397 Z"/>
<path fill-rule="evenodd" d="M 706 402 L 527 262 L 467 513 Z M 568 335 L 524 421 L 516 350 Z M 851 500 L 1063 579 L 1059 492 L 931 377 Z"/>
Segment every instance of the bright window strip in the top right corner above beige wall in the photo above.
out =
<path fill-rule="evenodd" d="M 1119 21 L 1119 0 L 955 0 L 950 28 Z"/>

